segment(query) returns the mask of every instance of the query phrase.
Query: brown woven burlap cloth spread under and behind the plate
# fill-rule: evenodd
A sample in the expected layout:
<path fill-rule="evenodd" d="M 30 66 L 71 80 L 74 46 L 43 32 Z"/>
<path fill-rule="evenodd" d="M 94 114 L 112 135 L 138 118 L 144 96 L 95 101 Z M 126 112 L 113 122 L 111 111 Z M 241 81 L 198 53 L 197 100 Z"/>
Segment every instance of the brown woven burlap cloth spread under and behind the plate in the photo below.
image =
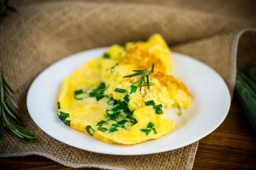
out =
<path fill-rule="evenodd" d="M 40 155 L 75 168 L 191 169 L 198 142 L 144 156 L 91 153 L 58 142 L 40 130 L 29 116 L 26 108 L 28 88 L 41 71 L 70 54 L 113 43 L 146 40 L 158 32 L 173 51 L 192 56 L 215 69 L 233 94 L 236 65 L 242 67 L 256 60 L 256 33 L 253 29 L 241 31 L 256 27 L 255 2 L 10 1 L 18 13 L 8 13 L 0 23 L 0 66 L 6 70 L 4 75 L 16 92 L 14 98 L 19 105 L 18 115 L 23 118 L 29 132 L 39 137 L 39 141 L 22 143 L 8 133 L 3 141 L 4 148 L 0 149 L 0 157 Z"/>

